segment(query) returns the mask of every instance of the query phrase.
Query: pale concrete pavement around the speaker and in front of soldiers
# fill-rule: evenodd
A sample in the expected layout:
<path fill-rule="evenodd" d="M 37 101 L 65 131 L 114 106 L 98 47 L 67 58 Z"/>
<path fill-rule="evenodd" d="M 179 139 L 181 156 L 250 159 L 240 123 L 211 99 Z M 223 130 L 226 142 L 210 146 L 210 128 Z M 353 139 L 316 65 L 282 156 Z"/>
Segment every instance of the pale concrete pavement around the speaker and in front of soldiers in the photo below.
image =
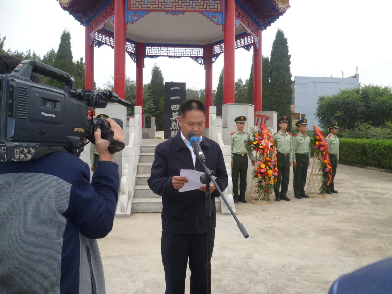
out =
<path fill-rule="evenodd" d="M 308 170 L 308 176 L 310 168 Z M 292 180 L 292 175 L 290 175 Z M 392 256 L 392 174 L 338 165 L 338 194 L 236 205 L 249 233 L 218 212 L 214 294 L 327 293 L 341 274 Z M 116 218 L 99 240 L 107 293 L 163 294 L 160 213 Z M 189 293 L 188 269 L 185 293 Z"/>

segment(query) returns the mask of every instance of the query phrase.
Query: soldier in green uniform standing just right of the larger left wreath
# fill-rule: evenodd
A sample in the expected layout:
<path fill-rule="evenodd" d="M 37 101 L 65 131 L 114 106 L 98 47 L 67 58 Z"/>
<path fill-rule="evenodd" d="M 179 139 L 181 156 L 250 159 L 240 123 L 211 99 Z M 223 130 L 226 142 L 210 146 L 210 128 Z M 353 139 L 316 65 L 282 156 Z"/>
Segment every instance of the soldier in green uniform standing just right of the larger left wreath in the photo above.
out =
<path fill-rule="evenodd" d="M 280 127 L 279 132 L 276 132 L 272 137 L 274 138 L 276 157 L 278 159 L 278 180 L 274 185 L 275 200 L 286 200 L 290 201 L 287 197 L 287 190 L 289 187 L 290 178 L 290 166 L 293 156 L 293 147 L 291 143 L 292 134 L 286 131 L 289 123 L 287 116 L 278 118 L 278 125 Z M 279 192 L 279 187 L 281 190 Z"/>

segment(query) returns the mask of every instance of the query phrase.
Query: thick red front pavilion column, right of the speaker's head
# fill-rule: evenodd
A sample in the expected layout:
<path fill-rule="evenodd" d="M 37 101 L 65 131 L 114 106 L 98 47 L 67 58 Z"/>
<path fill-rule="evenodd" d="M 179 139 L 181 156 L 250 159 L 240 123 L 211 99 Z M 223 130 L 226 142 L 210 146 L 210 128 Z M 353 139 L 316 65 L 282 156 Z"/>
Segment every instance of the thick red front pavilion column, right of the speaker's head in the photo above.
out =
<path fill-rule="evenodd" d="M 234 0 L 225 1 L 225 31 L 223 33 L 223 104 L 234 103 Z"/>

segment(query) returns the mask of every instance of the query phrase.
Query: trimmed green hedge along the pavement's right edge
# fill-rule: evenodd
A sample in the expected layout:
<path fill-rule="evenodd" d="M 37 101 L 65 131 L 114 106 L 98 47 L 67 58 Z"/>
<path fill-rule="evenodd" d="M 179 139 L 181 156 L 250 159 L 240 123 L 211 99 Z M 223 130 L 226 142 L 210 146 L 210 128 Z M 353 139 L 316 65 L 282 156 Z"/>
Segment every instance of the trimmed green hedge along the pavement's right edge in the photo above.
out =
<path fill-rule="evenodd" d="M 392 170 L 392 140 L 339 138 L 339 162 Z"/>

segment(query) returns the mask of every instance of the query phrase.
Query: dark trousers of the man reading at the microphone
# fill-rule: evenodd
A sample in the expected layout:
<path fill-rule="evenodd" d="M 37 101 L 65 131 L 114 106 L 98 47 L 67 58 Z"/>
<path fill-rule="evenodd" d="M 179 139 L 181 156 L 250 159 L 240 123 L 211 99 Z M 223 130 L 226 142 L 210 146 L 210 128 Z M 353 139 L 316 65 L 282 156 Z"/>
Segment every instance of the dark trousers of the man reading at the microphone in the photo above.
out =
<path fill-rule="evenodd" d="M 215 229 L 211 230 L 211 255 Z M 189 257 L 191 294 L 207 293 L 207 234 L 175 234 L 162 232 L 161 254 L 165 269 L 165 294 L 183 294 Z"/>

